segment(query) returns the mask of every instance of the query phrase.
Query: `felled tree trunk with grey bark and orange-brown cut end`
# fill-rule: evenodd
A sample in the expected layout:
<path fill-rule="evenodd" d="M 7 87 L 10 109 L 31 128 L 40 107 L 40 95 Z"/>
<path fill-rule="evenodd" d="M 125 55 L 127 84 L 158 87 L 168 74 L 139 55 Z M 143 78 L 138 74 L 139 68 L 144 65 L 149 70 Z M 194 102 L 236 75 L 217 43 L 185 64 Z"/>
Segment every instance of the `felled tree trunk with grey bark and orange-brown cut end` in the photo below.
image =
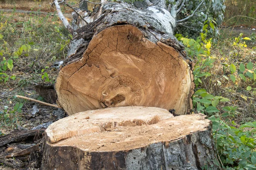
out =
<path fill-rule="evenodd" d="M 105 3 L 84 20 L 55 85 L 69 115 L 120 106 L 190 111 L 192 62 L 173 36 L 169 11 Z"/>

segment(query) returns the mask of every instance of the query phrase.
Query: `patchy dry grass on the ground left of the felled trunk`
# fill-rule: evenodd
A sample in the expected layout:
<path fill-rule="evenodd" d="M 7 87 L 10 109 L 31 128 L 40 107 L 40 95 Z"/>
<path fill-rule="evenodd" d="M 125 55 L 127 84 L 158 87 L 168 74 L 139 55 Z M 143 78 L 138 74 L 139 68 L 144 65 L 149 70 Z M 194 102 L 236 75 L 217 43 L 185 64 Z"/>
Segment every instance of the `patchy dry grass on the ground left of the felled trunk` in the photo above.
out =
<path fill-rule="evenodd" d="M 14 96 L 20 94 L 38 98 L 34 86 L 46 81 L 42 79 L 44 73 L 47 73 L 52 83 L 55 82 L 58 71 L 51 65 L 66 57 L 71 35 L 58 17 L 51 15 L 1 12 L 0 27 L 0 52 L 3 54 L 0 60 L 2 62 L 3 57 L 13 60 L 12 71 L 4 71 L 3 63 L 0 65 L 0 72 L 14 77 L 5 83 L 3 79 L 1 81 L 3 75 L 0 75 L 0 131 L 8 133 L 17 126 L 29 128 L 43 123 L 27 120 L 26 115 L 30 114 L 33 103 Z M 24 48 L 20 55 L 15 56 L 24 46 L 27 49 Z M 14 109 L 17 103 L 24 104 L 21 112 Z"/>

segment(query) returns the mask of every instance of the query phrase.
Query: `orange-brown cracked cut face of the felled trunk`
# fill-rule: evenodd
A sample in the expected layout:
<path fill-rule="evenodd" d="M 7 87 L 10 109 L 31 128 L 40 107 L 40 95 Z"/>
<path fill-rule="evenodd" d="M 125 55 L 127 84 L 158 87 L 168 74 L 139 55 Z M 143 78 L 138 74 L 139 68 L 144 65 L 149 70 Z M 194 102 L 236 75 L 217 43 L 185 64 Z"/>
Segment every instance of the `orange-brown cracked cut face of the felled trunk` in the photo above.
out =
<path fill-rule="evenodd" d="M 93 37 L 79 61 L 61 69 L 58 103 L 69 115 L 120 106 L 186 114 L 193 91 L 187 62 L 175 48 L 151 42 L 134 26 L 112 26 Z"/>

